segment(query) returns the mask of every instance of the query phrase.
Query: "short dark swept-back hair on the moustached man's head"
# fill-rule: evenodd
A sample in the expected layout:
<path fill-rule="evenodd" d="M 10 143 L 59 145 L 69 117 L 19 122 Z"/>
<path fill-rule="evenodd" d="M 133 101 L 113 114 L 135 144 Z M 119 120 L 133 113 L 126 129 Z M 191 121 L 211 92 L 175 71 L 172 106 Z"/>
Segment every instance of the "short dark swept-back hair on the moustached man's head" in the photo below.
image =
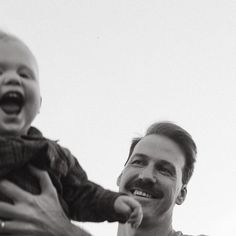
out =
<path fill-rule="evenodd" d="M 183 184 L 187 184 L 193 174 L 194 163 L 196 161 L 197 155 L 197 147 L 191 135 L 180 126 L 167 121 L 152 124 L 147 129 L 144 137 L 152 134 L 167 137 L 174 141 L 180 147 L 185 156 L 185 165 L 182 170 L 182 182 Z M 129 158 L 131 157 L 135 146 L 142 138 L 143 137 L 138 137 L 132 140 L 129 150 L 129 156 L 125 164 L 127 164 L 127 162 L 129 161 Z"/>

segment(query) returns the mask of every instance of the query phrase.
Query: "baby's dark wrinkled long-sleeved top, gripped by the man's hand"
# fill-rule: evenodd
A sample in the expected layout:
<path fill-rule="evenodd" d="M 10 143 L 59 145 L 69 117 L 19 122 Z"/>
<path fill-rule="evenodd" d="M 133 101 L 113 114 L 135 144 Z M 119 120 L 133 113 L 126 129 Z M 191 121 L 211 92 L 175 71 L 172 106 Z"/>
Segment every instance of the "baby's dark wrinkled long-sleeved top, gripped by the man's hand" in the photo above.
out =
<path fill-rule="evenodd" d="M 126 216 L 114 210 L 114 201 L 122 194 L 105 190 L 89 181 L 68 149 L 43 137 L 34 127 L 21 137 L 0 137 L 0 179 L 8 179 L 32 194 L 39 194 L 40 185 L 28 170 L 29 164 L 49 173 L 70 219 L 126 222 Z M 0 200 L 13 203 L 3 194 L 0 194 Z"/>

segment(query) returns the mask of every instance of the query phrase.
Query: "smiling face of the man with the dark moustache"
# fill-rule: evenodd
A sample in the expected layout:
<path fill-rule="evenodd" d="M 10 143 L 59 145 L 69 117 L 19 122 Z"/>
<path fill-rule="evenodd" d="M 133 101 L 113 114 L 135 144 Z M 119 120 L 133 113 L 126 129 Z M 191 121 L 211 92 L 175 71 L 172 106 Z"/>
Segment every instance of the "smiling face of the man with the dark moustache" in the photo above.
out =
<path fill-rule="evenodd" d="M 144 220 L 171 217 L 175 203 L 181 204 L 186 195 L 182 184 L 184 164 L 184 154 L 172 140 L 160 135 L 145 136 L 118 178 L 119 190 L 141 203 Z"/>

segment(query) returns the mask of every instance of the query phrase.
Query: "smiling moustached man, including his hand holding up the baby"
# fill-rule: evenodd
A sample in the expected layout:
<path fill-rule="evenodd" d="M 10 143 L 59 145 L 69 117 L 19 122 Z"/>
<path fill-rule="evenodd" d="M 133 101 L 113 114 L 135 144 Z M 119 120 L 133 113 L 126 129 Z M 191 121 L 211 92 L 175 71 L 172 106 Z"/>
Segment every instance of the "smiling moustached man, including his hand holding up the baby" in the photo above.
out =
<path fill-rule="evenodd" d="M 119 224 L 118 236 L 183 235 L 172 228 L 172 213 L 175 204 L 185 200 L 196 153 L 191 136 L 169 122 L 153 124 L 144 137 L 133 140 L 117 184 L 120 191 L 141 203 L 144 217 L 138 229 Z M 84 235 L 63 214 L 48 175 L 36 169 L 33 173 L 42 186 L 40 195 L 26 193 L 7 181 L 0 182 L 0 191 L 15 202 L 14 206 L 0 203 L 0 218 L 11 219 L 0 223 L 0 234 Z"/>

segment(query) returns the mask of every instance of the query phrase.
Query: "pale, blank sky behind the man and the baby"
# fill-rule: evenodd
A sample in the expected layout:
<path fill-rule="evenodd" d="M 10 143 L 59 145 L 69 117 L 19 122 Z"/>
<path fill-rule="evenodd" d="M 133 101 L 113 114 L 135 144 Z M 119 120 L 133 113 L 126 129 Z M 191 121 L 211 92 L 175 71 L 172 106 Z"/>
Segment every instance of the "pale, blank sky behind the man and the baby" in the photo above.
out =
<path fill-rule="evenodd" d="M 198 146 L 175 229 L 236 235 L 236 1 L 0 0 L 0 28 L 38 59 L 34 125 L 91 180 L 118 190 L 131 139 L 174 121 Z M 117 230 L 82 226 L 96 236 Z"/>

